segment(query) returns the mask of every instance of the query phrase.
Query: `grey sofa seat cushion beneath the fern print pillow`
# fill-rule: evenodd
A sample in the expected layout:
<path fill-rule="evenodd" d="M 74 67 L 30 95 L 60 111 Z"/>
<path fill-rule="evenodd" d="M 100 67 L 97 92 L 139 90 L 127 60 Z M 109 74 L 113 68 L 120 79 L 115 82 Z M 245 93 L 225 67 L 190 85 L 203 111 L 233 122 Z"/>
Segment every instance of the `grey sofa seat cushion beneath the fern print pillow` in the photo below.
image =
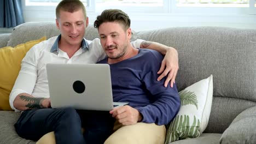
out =
<path fill-rule="evenodd" d="M 220 136 L 222 136 L 222 134 L 203 133 L 200 137 L 196 137 L 194 139 L 174 141 L 174 142 L 171 142 L 171 144 L 200 144 L 200 143 L 217 144 L 219 143 Z"/>

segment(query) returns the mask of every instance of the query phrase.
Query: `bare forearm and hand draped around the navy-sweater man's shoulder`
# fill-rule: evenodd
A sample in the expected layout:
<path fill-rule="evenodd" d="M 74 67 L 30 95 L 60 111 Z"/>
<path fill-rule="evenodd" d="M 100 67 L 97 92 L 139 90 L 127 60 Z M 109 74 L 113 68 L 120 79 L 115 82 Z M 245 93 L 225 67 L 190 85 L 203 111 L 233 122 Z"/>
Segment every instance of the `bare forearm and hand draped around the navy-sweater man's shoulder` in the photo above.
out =
<path fill-rule="evenodd" d="M 164 86 L 167 87 L 168 82 L 171 81 L 170 86 L 173 87 L 173 83 L 175 82 L 175 77 L 179 69 L 177 50 L 173 47 L 153 41 L 142 41 L 141 48 L 156 50 L 162 53 L 162 55 L 165 55 L 164 59 L 162 60 L 161 67 L 158 71 L 158 74 L 161 75 L 158 77 L 157 80 L 160 81 L 162 78 L 167 76 Z"/>

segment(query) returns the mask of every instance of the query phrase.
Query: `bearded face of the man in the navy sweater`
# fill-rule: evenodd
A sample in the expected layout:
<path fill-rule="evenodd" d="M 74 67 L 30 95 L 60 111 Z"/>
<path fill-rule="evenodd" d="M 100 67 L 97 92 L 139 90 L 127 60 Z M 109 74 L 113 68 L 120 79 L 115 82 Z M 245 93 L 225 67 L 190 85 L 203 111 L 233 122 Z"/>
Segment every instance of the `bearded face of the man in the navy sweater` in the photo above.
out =
<path fill-rule="evenodd" d="M 131 29 L 118 22 L 104 22 L 98 27 L 103 50 L 110 59 L 122 59 L 129 47 Z"/>

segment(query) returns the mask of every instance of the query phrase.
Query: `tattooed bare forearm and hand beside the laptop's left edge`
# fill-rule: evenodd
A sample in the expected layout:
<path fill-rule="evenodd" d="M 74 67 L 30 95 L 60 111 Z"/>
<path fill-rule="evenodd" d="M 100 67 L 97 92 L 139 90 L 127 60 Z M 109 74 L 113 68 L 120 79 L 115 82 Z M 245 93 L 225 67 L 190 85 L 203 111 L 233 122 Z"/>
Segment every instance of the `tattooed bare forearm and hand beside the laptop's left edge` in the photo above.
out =
<path fill-rule="evenodd" d="M 43 109 L 51 107 L 49 98 L 35 98 L 28 93 L 18 94 L 13 101 L 15 109 L 25 111 L 27 109 Z"/>

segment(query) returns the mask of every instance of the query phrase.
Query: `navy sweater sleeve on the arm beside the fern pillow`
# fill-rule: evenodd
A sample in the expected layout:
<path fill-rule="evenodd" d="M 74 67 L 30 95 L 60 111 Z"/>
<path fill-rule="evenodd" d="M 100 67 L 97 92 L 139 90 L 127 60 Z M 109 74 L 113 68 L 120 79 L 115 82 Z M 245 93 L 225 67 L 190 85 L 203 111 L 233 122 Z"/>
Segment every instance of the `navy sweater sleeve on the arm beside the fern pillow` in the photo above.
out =
<path fill-rule="evenodd" d="M 148 70 L 143 77 L 150 99 L 153 101 L 144 107 L 135 107 L 143 116 L 142 122 L 156 123 L 158 125 L 168 124 L 178 113 L 181 101 L 176 85 L 164 87 L 165 79 L 157 81 L 157 71 L 160 68 L 162 56 L 153 56 L 145 69 Z M 150 58 L 150 59 L 151 59 Z"/>

